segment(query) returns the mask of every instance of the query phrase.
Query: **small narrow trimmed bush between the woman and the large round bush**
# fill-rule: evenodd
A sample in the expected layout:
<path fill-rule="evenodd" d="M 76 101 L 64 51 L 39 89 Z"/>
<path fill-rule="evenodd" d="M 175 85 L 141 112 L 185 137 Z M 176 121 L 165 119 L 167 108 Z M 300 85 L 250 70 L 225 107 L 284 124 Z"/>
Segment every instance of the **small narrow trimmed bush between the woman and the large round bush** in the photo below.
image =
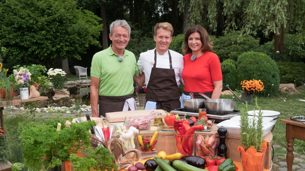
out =
<path fill-rule="evenodd" d="M 221 63 L 221 72 L 222 72 L 222 91 L 227 90 L 225 87 L 229 85 L 231 90 L 238 89 L 239 82 L 236 80 L 236 61 L 232 59 L 226 59 Z"/>

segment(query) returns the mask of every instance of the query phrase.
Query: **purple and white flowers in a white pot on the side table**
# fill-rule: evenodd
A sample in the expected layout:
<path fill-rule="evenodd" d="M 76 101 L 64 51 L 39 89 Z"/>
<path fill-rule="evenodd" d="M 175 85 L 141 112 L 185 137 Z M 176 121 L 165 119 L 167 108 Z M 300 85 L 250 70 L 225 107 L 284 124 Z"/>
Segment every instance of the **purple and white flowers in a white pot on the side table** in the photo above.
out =
<path fill-rule="evenodd" d="M 31 80 L 30 71 L 27 68 L 20 67 L 18 70 L 14 69 L 13 74 L 20 90 L 20 98 L 28 99 L 30 87 L 29 81 Z"/>

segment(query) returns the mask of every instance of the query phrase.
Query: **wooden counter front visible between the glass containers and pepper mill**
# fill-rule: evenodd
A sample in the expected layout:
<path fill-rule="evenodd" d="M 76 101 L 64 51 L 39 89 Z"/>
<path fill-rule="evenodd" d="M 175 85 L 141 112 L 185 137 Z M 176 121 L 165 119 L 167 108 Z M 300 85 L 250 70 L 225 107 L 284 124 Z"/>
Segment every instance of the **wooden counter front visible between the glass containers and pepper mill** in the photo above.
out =
<path fill-rule="evenodd" d="M 117 124 L 117 123 L 111 123 Z M 201 132 L 196 131 L 196 134 L 201 135 L 213 135 L 217 133 L 217 124 L 213 124 L 212 131 L 210 132 Z M 153 132 L 149 132 L 149 130 L 140 130 L 140 134 L 153 134 Z M 228 158 L 232 159 L 233 161 L 240 162 L 240 153 L 237 151 L 237 147 L 240 145 L 240 137 L 235 135 L 228 135 L 226 136 L 226 146 L 228 148 L 227 155 Z M 267 141 L 267 155 L 266 155 L 266 162 L 265 162 L 265 169 L 271 170 L 272 169 L 272 140 L 273 134 L 269 132 L 265 140 Z M 219 142 L 219 139 L 218 139 Z M 174 143 L 174 132 L 171 131 L 159 131 L 159 138 L 158 138 L 158 151 L 165 151 L 167 154 L 173 154 L 175 152 L 175 143 Z"/>

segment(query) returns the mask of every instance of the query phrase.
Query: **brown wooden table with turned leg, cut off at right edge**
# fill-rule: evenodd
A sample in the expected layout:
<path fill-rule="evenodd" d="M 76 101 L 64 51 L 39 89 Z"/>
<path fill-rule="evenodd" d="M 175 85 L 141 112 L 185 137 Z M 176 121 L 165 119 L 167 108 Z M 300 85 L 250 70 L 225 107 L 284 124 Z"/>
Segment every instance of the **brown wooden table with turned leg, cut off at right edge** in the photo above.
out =
<path fill-rule="evenodd" d="M 281 119 L 280 122 L 286 124 L 286 139 L 287 139 L 287 170 L 292 171 L 293 164 L 293 141 L 294 139 L 299 139 L 305 141 L 305 125 L 302 122 L 291 120 L 291 119 Z"/>

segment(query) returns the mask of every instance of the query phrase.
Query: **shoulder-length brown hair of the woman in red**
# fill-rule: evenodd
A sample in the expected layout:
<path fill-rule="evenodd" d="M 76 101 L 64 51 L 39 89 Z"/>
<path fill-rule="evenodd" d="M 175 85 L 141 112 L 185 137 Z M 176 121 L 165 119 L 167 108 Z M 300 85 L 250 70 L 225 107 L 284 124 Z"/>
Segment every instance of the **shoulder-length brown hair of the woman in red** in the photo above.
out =
<path fill-rule="evenodd" d="M 203 28 L 203 26 L 201 25 L 195 25 L 190 27 L 186 33 L 185 33 L 185 37 L 184 37 L 184 45 L 182 48 L 182 51 L 184 54 L 190 54 L 192 53 L 192 50 L 190 49 L 190 47 L 188 47 L 188 37 L 192 34 L 192 33 L 199 33 L 200 34 L 200 41 L 202 43 L 202 51 L 203 52 L 211 52 L 213 51 L 213 45 L 210 41 L 210 37 L 208 32 L 206 31 L 206 29 Z"/>

